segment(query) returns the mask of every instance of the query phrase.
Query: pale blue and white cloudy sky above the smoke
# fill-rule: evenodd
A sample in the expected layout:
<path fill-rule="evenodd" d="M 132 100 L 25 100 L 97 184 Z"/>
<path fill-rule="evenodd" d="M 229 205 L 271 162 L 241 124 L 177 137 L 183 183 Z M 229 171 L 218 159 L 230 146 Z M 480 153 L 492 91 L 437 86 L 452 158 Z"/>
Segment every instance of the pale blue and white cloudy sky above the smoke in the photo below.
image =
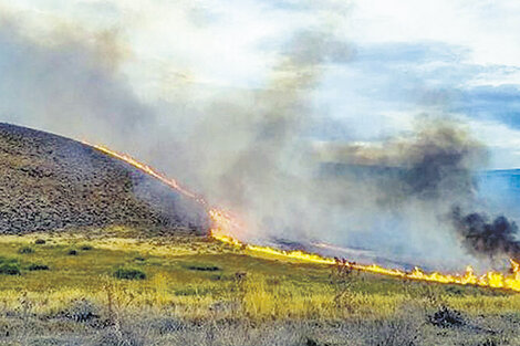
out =
<path fill-rule="evenodd" d="M 0 0 L 0 11 L 34 40 L 103 33 L 145 105 L 261 88 L 294 35 L 320 28 L 333 40 L 309 94 L 313 140 L 381 140 L 445 114 L 488 146 L 487 168 L 520 167 L 517 1 Z"/>

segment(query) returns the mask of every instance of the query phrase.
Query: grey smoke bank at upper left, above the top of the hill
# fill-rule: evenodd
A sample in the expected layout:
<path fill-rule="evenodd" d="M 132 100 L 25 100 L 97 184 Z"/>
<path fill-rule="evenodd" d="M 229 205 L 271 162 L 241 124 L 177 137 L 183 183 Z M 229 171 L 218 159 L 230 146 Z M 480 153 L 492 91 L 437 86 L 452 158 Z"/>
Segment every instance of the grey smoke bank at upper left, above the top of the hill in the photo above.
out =
<path fill-rule="evenodd" d="M 21 13 L 2 14 L 0 113 L 7 122 L 118 147 L 155 123 L 150 106 L 118 73 L 126 50 L 116 31 L 58 22 L 37 33 Z"/>

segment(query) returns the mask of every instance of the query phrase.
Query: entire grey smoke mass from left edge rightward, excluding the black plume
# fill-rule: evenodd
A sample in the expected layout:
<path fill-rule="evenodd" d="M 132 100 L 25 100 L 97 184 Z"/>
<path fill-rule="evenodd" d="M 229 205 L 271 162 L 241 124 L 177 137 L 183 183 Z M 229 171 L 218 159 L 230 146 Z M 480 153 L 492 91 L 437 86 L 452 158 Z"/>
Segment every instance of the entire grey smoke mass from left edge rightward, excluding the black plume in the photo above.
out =
<path fill-rule="evenodd" d="M 418 264 L 468 259 L 446 216 L 477 203 L 471 171 L 485 165 L 486 149 L 462 124 L 419 116 L 414 130 L 379 143 L 315 147 L 313 93 L 327 66 L 355 59 L 333 25 L 297 32 L 262 87 L 199 85 L 154 103 L 121 72 L 126 48 L 116 30 L 45 38 L 10 15 L 0 20 L 6 120 L 153 164 L 233 210 L 248 224 L 238 234 L 245 240 L 327 241 Z"/>

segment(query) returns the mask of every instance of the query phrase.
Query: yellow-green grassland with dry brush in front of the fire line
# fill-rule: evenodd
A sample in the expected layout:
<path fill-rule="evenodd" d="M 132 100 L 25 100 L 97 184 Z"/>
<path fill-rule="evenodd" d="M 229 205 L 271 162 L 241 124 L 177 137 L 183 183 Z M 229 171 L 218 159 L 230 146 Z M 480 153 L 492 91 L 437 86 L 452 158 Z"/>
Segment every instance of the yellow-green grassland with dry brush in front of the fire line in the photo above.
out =
<path fill-rule="evenodd" d="M 6 345 L 520 345 L 518 294 L 262 258 L 201 237 L 1 235 L 2 265 L 18 269 L 0 274 Z"/>

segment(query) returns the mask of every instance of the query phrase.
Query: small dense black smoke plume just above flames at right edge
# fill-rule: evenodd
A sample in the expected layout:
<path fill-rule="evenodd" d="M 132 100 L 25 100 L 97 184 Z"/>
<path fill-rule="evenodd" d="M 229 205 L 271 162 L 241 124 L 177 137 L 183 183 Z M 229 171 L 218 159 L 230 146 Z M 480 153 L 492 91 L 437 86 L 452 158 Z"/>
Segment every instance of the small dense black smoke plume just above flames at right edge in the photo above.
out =
<path fill-rule="evenodd" d="M 459 207 L 453 210 L 453 222 L 462 238 L 462 244 L 476 256 L 520 258 L 520 241 L 517 240 L 518 226 L 503 216 L 489 221 L 485 213 L 472 212 L 464 216 Z"/>

